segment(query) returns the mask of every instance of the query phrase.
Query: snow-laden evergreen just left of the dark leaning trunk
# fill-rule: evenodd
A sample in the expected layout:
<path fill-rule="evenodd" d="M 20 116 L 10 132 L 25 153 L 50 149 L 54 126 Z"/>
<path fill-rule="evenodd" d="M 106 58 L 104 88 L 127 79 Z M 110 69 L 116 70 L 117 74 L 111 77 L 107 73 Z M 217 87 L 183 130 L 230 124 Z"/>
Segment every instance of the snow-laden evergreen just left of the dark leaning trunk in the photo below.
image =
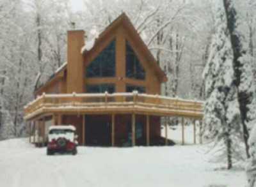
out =
<path fill-rule="evenodd" d="M 233 52 L 228 38 L 230 34 L 221 0 L 216 3 L 215 12 L 216 31 L 212 36 L 211 52 L 204 70 L 204 135 L 215 145 L 224 145 L 221 155 L 227 158 L 227 168 L 230 169 L 232 157 L 236 154 L 233 141 L 239 135 L 237 89 L 232 68 Z"/>

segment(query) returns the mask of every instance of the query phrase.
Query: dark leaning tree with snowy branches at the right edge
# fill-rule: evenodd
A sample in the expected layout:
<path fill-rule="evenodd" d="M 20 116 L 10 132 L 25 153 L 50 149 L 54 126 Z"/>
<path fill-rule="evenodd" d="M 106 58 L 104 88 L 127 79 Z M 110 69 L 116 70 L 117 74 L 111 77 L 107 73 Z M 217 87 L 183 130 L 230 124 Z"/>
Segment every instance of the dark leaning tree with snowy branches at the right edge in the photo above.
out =
<path fill-rule="evenodd" d="M 255 80 L 253 79 L 253 66 L 250 60 L 248 42 L 244 42 L 244 34 L 241 33 L 241 23 L 237 14 L 235 3 L 232 0 L 223 0 L 225 15 L 227 17 L 227 27 L 230 33 L 233 50 L 234 84 L 238 90 L 239 110 L 241 113 L 241 123 L 243 126 L 243 138 L 246 148 L 246 156 L 249 158 L 249 130 L 255 123 Z"/>

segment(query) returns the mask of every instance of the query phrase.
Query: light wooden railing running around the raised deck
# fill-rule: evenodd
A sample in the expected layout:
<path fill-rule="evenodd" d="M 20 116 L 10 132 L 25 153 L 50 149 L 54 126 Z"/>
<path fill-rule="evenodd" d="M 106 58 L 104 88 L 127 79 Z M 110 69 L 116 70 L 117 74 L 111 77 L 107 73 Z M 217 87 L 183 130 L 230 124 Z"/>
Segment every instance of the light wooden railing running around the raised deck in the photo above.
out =
<path fill-rule="evenodd" d="M 25 117 L 43 107 L 118 107 L 140 105 L 166 110 L 187 110 L 202 113 L 203 102 L 182 100 L 160 95 L 133 93 L 72 93 L 72 94 L 42 94 L 36 100 L 24 107 Z"/>

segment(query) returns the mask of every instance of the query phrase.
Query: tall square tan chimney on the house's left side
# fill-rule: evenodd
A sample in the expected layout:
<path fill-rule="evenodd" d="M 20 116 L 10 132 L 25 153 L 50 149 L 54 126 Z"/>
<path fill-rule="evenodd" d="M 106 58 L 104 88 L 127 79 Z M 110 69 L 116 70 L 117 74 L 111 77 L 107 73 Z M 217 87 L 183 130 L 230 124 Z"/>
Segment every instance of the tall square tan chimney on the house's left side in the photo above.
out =
<path fill-rule="evenodd" d="M 83 93 L 84 63 L 81 49 L 84 46 L 84 31 L 68 31 L 67 34 L 67 93 Z"/>

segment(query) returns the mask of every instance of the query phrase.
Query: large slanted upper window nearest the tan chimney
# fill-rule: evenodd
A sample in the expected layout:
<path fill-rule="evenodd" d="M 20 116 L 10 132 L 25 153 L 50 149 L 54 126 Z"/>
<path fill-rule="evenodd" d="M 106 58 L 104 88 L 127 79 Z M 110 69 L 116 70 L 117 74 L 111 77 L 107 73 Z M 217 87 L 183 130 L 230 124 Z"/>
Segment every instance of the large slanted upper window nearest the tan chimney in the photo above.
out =
<path fill-rule="evenodd" d="M 115 77 L 115 48 L 113 40 L 86 68 L 86 77 Z"/>

